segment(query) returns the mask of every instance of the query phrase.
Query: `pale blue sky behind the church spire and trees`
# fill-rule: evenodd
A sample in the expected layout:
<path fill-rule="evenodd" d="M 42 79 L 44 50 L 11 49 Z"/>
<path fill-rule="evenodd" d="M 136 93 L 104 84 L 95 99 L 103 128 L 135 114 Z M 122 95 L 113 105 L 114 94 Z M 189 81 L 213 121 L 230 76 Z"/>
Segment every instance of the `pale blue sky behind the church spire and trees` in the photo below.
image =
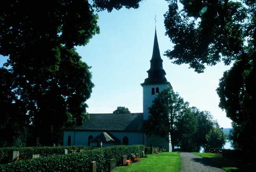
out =
<path fill-rule="evenodd" d="M 92 66 L 95 87 L 87 101 L 89 113 L 112 113 L 117 106 L 131 112 L 143 112 L 142 87 L 147 78 L 154 42 L 155 22 L 163 68 L 166 78 L 190 106 L 208 110 L 221 127 L 231 127 L 231 120 L 219 107 L 216 93 L 223 72 L 230 69 L 219 63 L 206 67 L 197 74 L 188 65 L 175 65 L 162 54 L 173 44 L 165 36 L 163 14 L 168 10 L 165 0 L 144 0 L 138 9 L 113 10 L 98 13 L 100 34 L 95 35 L 85 47 L 76 47 L 82 61 Z M 6 61 L 0 58 L 0 65 Z"/>

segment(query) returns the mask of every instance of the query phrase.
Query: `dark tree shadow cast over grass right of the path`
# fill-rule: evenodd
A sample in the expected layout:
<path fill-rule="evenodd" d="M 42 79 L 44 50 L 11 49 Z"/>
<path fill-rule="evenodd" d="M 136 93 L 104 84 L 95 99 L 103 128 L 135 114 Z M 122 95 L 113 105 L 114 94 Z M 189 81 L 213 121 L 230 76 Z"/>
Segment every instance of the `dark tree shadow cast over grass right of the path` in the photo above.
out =
<path fill-rule="evenodd" d="M 256 172 L 255 164 L 247 163 L 246 161 L 226 157 L 213 157 L 213 158 L 192 158 L 192 161 L 208 165 L 210 167 L 236 167 L 239 169 L 229 169 L 228 172 Z"/>

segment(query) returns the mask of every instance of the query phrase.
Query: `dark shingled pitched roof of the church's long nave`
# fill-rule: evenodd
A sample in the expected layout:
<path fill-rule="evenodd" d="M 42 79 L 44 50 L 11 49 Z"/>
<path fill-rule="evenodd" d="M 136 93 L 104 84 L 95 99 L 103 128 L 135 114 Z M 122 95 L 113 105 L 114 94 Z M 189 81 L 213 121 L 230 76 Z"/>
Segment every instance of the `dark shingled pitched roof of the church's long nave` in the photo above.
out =
<path fill-rule="evenodd" d="M 82 126 L 69 127 L 66 130 L 143 132 L 143 113 L 90 114 L 90 119 Z"/>

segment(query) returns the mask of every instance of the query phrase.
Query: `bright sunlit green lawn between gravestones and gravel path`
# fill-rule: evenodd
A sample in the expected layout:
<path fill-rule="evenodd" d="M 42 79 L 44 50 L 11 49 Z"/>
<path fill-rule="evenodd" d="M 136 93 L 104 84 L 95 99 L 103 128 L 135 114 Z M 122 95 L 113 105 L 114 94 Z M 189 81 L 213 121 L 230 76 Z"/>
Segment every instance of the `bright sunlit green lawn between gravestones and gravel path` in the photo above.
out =
<path fill-rule="evenodd" d="M 130 166 L 117 167 L 114 172 L 181 172 L 181 158 L 179 152 L 162 152 L 148 154 L 148 158 Z"/>

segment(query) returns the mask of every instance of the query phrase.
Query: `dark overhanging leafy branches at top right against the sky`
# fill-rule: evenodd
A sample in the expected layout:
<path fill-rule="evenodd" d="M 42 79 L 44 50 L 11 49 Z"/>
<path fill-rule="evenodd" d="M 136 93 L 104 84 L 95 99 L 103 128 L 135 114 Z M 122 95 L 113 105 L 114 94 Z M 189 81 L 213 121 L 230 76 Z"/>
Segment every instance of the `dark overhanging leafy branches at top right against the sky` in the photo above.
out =
<path fill-rule="evenodd" d="M 204 65 L 215 65 L 221 60 L 230 64 L 243 53 L 246 36 L 247 9 L 241 2 L 228 0 L 167 0 L 165 13 L 166 34 L 175 44 L 165 55 L 176 64 L 189 63 L 196 72 Z"/>

